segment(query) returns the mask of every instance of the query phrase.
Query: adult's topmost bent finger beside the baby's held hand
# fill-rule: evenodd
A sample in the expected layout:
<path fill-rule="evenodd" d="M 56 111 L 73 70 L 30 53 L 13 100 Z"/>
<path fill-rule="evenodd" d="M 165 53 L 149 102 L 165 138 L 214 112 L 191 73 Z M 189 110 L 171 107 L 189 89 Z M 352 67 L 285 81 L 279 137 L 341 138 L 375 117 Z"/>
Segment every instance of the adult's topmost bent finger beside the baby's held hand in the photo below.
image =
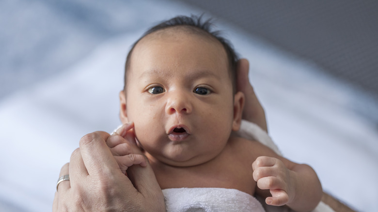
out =
<path fill-rule="evenodd" d="M 110 174 L 114 170 L 119 170 L 105 142 L 109 136 L 106 132 L 97 131 L 80 139 L 81 157 L 89 175 L 98 176 L 101 173 Z"/>

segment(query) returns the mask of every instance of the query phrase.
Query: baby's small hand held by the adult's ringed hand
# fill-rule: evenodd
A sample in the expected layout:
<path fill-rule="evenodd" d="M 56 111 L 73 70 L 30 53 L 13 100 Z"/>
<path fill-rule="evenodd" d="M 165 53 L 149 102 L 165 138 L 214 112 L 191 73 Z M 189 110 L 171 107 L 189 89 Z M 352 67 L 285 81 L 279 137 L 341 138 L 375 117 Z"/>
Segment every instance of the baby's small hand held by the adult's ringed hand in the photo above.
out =
<path fill-rule="evenodd" d="M 147 166 L 146 158 L 137 147 L 135 135 L 132 130 L 134 123 L 127 123 L 108 137 L 106 143 L 118 163 L 122 173 L 126 174 L 132 165 Z"/>

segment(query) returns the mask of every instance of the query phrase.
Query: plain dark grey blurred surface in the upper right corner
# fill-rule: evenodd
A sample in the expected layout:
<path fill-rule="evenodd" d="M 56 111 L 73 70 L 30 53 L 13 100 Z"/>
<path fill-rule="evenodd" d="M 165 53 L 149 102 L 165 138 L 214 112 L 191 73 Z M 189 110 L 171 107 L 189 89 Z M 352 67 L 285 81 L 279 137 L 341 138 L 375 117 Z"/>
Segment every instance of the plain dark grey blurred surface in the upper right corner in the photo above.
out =
<path fill-rule="evenodd" d="M 181 1 L 313 61 L 378 99 L 378 1 Z"/>

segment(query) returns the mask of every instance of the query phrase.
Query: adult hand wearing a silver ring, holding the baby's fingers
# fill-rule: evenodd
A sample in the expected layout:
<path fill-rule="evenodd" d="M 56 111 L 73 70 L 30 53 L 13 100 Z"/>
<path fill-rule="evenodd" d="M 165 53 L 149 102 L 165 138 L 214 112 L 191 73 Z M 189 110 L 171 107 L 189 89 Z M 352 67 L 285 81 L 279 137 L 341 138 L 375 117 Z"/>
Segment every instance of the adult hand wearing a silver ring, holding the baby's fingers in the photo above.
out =
<path fill-rule="evenodd" d="M 59 184 L 53 212 L 165 211 L 164 196 L 152 168 L 148 163 L 146 167 L 129 167 L 130 181 L 105 142 L 109 136 L 94 132 L 80 139 L 80 148 L 62 167 L 60 176 L 69 174 L 70 181 Z M 139 153 L 136 145 L 130 147 Z"/>

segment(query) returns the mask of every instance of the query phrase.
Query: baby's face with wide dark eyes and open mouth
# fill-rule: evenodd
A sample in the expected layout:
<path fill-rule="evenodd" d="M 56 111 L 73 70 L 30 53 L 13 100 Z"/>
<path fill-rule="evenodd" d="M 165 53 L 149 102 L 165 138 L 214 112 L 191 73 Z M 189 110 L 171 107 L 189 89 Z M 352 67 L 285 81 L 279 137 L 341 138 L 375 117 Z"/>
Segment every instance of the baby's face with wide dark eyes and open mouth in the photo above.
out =
<path fill-rule="evenodd" d="M 193 166 L 222 151 L 234 97 L 221 44 L 184 32 L 150 34 L 135 46 L 127 72 L 121 119 L 134 122 L 147 155 Z"/>

